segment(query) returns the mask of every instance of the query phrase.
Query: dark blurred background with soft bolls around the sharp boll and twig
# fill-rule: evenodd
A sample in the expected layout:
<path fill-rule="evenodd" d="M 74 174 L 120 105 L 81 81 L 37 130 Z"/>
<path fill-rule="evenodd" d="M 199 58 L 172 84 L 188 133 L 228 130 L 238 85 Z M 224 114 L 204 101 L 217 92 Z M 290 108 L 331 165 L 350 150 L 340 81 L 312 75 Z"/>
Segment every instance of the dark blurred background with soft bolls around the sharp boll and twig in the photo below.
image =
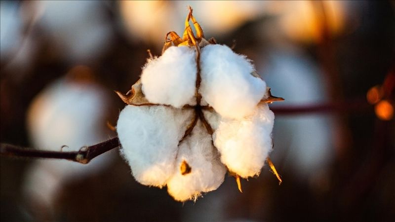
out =
<path fill-rule="evenodd" d="M 183 32 L 236 44 L 284 102 L 271 158 L 196 203 L 134 181 L 118 150 L 88 165 L 1 157 L 1 221 L 393 221 L 394 1 L 3 1 L 1 143 L 78 150 L 116 134 L 147 49 Z"/>

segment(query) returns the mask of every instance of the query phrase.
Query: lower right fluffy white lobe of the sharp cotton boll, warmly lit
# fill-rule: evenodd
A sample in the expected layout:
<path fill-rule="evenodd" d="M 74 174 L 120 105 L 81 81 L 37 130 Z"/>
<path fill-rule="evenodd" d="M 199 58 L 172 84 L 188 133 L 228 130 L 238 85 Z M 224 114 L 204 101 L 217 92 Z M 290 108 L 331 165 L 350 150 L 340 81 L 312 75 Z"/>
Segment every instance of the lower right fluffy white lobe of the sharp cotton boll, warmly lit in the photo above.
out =
<path fill-rule="evenodd" d="M 274 117 L 267 104 L 259 104 L 250 116 L 221 120 L 213 140 L 230 171 L 243 178 L 260 173 L 272 150 Z"/>

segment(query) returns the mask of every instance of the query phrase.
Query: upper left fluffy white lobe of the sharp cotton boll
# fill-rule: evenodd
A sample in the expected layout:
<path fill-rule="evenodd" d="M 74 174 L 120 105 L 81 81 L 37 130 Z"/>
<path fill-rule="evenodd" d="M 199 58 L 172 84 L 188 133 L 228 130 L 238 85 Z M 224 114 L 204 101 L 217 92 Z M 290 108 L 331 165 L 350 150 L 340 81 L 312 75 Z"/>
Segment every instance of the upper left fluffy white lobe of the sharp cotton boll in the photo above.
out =
<path fill-rule="evenodd" d="M 172 46 L 145 65 L 141 74 L 142 90 L 152 103 L 176 108 L 195 105 L 196 75 L 195 48 Z"/>

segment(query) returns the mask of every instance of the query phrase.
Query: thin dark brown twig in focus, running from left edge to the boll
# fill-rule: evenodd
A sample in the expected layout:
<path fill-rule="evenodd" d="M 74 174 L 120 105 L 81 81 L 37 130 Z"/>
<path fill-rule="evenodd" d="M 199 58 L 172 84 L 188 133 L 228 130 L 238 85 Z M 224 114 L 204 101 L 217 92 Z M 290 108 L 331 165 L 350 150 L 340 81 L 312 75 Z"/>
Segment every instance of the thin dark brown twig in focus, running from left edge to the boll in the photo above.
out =
<path fill-rule="evenodd" d="M 32 148 L 22 148 L 10 144 L 0 144 L 1 156 L 10 157 L 30 157 L 30 158 L 54 158 L 54 159 L 67 159 L 79 163 L 89 163 L 93 158 L 101 155 L 111 149 L 119 147 L 118 137 L 114 137 L 105 142 L 92 145 L 89 147 L 82 147 L 79 151 L 63 152 L 63 151 L 49 151 L 39 150 Z"/>

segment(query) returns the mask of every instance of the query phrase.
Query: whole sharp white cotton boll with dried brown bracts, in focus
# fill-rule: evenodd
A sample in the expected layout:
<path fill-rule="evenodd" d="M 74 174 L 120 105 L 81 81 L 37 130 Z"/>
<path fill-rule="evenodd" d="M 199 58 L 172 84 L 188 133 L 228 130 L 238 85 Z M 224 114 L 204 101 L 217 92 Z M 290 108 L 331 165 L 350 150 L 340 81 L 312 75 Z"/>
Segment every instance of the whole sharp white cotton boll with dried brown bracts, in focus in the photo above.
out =
<path fill-rule="evenodd" d="M 226 172 L 241 191 L 240 178 L 258 176 L 265 161 L 281 181 L 268 158 L 274 113 L 267 104 L 282 99 L 245 56 L 206 40 L 191 8 L 183 36 L 169 32 L 162 55 L 150 53 L 141 78 L 117 93 L 127 104 L 117 123 L 120 152 L 139 183 L 196 200 Z"/>

